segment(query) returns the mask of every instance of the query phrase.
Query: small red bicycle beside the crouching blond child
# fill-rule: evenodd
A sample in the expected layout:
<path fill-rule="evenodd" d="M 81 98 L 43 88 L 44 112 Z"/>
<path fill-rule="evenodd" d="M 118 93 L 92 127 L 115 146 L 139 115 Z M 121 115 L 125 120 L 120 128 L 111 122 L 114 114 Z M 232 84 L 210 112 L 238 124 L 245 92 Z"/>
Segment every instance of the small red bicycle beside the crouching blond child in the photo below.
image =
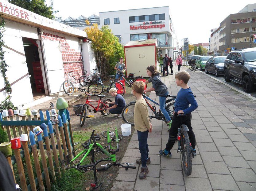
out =
<path fill-rule="evenodd" d="M 97 92 L 90 92 L 90 91 L 87 91 L 87 90 L 85 90 L 85 89 L 83 89 L 83 88 L 78 88 L 78 90 L 84 92 L 85 94 L 86 94 L 86 92 L 89 93 L 89 94 L 86 94 L 86 95 L 87 95 L 87 98 L 86 98 L 85 103 L 83 103 L 83 108 L 82 108 L 81 114 L 80 114 L 80 115 L 77 115 L 77 116 L 80 116 L 80 123 L 79 123 L 79 124 L 80 124 L 81 127 L 83 127 L 83 124 L 84 124 L 84 122 L 85 122 L 85 119 L 86 119 L 86 118 L 90 118 L 89 116 L 87 116 L 87 110 L 88 110 L 89 112 L 92 112 L 92 111 L 93 111 L 93 112 L 95 112 L 95 113 L 101 112 L 101 114 L 102 114 L 103 116 L 109 115 L 109 110 L 108 110 L 109 106 L 108 106 L 107 104 L 105 104 L 105 102 L 106 102 L 106 101 L 112 102 L 111 99 L 105 99 L 105 100 L 102 101 L 101 99 L 102 99 L 103 97 L 105 97 L 105 95 L 98 95 L 98 97 L 99 97 L 99 100 L 98 100 L 98 101 L 97 101 L 97 100 L 88 100 L 88 97 L 89 97 L 89 96 L 92 96 L 92 94 L 97 93 Z M 97 107 L 94 107 L 93 105 L 91 105 L 90 102 L 98 103 Z M 93 108 L 93 110 L 88 109 L 89 106 L 91 106 L 91 107 Z"/>

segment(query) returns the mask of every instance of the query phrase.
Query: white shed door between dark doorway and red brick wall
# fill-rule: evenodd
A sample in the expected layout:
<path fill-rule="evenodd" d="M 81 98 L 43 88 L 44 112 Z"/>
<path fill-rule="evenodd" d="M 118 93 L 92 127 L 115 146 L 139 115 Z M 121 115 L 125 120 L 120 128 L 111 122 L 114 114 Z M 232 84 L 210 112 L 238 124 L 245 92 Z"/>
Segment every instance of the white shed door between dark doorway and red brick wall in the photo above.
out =
<path fill-rule="evenodd" d="M 50 94 L 63 91 L 64 68 L 59 41 L 43 40 L 46 75 Z"/>

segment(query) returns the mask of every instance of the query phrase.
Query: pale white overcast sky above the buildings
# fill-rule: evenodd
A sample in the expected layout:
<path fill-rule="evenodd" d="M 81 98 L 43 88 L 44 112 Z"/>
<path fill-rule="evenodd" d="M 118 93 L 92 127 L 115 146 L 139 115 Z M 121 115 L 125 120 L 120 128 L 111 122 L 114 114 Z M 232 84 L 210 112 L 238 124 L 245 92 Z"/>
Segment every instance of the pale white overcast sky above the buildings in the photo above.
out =
<path fill-rule="evenodd" d="M 46 0 L 47 5 L 50 5 L 50 2 L 50 0 Z M 239 12 L 247 4 L 255 3 L 255 0 L 166 0 L 161 1 L 163 2 L 161 4 L 159 2 L 151 0 L 53 0 L 53 8 L 59 11 L 56 13 L 57 17 L 66 19 L 68 17 L 77 18 L 81 15 L 85 17 L 92 14 L 99 16 L 99 12 L 106 11 L 169 6 L 173 27 L 180 45 L 181 39 L 185 37 L 188 37 L 189 44 L 209 42 L 211 29 L 218 28 L 229 14 Z"/>

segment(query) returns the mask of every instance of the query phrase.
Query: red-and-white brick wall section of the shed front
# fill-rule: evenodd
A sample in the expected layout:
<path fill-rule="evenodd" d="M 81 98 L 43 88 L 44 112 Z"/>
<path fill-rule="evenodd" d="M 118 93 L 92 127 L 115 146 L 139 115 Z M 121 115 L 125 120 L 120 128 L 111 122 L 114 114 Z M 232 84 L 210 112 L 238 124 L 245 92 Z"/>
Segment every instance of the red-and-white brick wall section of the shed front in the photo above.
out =
<path fill-rule="evenodd" d="M 69 72 L 69 71 L 72 71 L 72 70 L 74 71 L 74 72 L 71 73 L 71 76 L 75 76 L 76 81 L 78 83 L 80 76 L 83 75 L 83 63 L 81 62 L 82 61 L 81 52 L 76 52 L 75 49 L 72 49 L 72 47 L 69 46 L 66 38 L 63 37 L 63 36 L 54 35 L 54 34 L 44 32 L 41 35 L 41 37 L 42 37 L 42 39 L 53 40 L 53 41 L 59 41 L 60 42 L 61 53 L 62 53 L 62 61 L 63 62 L 80 61 L 80 62 L 63 64 L 64 65 L 64 72 Z M 65 75 L 65 79 L 67 79 L 67 75 Z"/>

